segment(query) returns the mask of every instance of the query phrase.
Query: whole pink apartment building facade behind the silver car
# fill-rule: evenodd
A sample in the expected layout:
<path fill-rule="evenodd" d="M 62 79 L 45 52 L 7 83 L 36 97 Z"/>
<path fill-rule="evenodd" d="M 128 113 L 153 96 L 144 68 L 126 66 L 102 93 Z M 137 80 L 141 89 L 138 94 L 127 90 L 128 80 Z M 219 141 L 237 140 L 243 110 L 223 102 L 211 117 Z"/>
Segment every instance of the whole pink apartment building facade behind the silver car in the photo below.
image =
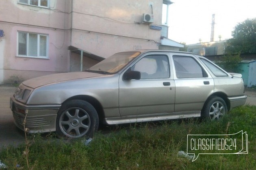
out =
<path fill-rule="evenodd" d="M 169 0 L 5 0 L 0 83 L 85 70 L 110 55 L 159 49 Z"/>

